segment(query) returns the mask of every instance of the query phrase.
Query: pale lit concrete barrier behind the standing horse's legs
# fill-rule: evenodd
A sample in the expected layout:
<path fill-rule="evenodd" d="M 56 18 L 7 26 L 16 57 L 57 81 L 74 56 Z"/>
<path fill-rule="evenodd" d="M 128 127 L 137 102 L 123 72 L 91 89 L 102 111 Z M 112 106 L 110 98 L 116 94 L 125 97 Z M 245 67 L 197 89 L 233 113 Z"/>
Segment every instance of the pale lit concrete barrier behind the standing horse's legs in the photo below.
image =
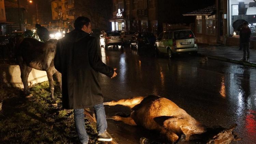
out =
<path fill-rule="evenodd" d="M 20 68 L 18 65 L 1 64 L 0 65 L 0 85 L 8 87 L 24 88 L 20 78 Z M 28 85 L 48 81 L 45 71 L 32 69 L 28 76 Z"/>

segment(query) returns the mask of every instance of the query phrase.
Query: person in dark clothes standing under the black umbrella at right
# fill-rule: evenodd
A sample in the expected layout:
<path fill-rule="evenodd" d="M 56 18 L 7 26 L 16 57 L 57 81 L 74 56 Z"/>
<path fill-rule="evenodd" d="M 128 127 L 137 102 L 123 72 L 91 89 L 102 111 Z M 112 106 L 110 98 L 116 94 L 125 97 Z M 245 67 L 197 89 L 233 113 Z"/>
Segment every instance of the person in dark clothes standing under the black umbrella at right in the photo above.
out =
<path fill-rule="evenodd" d="M 248 28 L 248 25 L 245 22 L 243 22 L 242 26 L 243 28 L 240 30 L 240 43 L 243 48 L 244 55 L 241 60 L 242 61 L 247 60 L 249 62 L 250 61 L 249 45 L 250 45 L 251 29 Z M 246 52 L 247 52 L 247 59 L 245 59 Z"/>

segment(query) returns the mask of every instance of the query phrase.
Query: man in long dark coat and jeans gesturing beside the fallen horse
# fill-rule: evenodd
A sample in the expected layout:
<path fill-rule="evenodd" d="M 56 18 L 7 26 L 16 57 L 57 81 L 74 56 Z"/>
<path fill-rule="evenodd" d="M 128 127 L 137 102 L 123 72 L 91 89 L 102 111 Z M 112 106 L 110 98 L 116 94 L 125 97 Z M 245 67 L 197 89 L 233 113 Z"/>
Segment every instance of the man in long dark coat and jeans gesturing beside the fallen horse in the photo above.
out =
<path fill-rule="evenodd" d="M 97 40 L 89 35 L 89 18 L 78 17 L 74 27 L 75 30 L 58 41 L 54 58 L 54 66 L 62 74 L 62 106 L 74 109 L 76 131 L 81 143 L 88 143 L 84 109 L 92 106 L 97 120 L 98 141 L 112 141 L 106 132 L 107 122 L 98 72 L 113 78 L 117 75 L 116 68 L 107 66 L 98 56 Z"/>

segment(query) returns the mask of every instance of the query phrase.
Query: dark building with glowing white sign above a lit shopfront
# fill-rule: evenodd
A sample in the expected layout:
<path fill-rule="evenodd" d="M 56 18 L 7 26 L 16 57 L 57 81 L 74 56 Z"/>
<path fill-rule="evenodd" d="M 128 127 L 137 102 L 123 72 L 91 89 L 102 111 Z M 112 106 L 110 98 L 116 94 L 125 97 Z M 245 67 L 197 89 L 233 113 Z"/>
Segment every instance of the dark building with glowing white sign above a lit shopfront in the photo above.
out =
<path fill-rule="evenodd" d="M 110 30 L 152 31 L 157 33 L 156 0 L 113 0 Z"/>

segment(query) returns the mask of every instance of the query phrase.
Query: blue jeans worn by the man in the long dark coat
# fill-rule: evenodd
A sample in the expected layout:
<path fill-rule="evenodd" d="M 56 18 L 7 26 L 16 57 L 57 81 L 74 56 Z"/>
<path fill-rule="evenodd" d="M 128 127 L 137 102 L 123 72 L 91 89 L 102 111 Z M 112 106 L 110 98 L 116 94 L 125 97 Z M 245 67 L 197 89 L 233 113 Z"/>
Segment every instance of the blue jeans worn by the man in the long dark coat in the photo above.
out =
<path fill-rule="evenodd" d="M 94 113 L 97 121 L 97 131 L 98 133 L 103 133 L 108 125 L 106 122 L 106 114 L 103 103 L 96 104 L 94 107 Z M 84 121 L 84 109 L 74 109 L 74 120 L 76 132 L 79 137 L 79 140 L 82 144 L 88 143 L 88 134 L 85 130 L 85 121 Z"/>

